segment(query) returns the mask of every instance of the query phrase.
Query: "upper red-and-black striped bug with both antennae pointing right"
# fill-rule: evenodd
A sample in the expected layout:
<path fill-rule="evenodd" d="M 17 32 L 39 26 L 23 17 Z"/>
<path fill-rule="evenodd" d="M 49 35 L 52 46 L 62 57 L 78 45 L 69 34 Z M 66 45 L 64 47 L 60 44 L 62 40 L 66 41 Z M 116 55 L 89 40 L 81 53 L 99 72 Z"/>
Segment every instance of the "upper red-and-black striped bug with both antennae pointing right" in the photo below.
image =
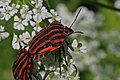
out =
<path fill-rule="evenodd" d="M 80 13 L 81 9 L 78 11 Z M 78 14 L 73 21 L 76 21 Z M 71 26 L 73 25 L 71 24 Z M 31 55 L 34 55 L 34 59 L 44 57 L 46 54 L 59 49 L 63 42 L 66 42 L 67 45 L 73 50 L 73 48 L 66 41 L 66 37 L 72 33 L 82 33 L 80 31 L 74 32 L 70 27 L 64 26 L 61 22 L 54 21 L 44 29 L 38 32 L 36 36 L 30 41 L 28 52 Z"/>

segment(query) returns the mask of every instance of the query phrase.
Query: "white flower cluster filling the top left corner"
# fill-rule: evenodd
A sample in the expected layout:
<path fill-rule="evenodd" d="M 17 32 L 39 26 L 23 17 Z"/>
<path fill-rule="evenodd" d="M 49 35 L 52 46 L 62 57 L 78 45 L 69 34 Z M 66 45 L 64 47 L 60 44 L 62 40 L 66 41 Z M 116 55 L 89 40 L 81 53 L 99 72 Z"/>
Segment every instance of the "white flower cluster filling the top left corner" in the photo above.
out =
<path fill-rule="evenodd" d="M 20 5 L 14 3 L 10 5 L 10 2 L 11 0 L 0 1 L 1 20 L 5 19 L 6 21 L 8 21 L 12 16 L 14 16 L 18 12 Z"/>

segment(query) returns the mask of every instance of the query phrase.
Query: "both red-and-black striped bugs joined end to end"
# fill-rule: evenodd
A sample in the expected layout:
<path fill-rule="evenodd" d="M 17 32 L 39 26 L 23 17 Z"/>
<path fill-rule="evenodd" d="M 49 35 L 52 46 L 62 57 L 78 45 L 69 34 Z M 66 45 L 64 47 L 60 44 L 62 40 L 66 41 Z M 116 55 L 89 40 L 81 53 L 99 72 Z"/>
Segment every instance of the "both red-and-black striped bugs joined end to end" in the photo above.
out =
<path fill-rule="evenodd" d="M 73 23 L 76 21 L 80 11 L 81 9 L 79 9 Z M 61 22 L 54 21 L 39 31 L 30 41 L 28 51 L 24 48 L 21 49 L 14 62 L 13 75 L 15 80 L 32 80 L 32 75 L 39 80 L 39 78 L 33 73 L 33 60 L 43 58 L 50 52 L 60 49 L 61 47 L 63 48 L 63 52 L 65 52 L 63 42 L 74 51 L 71 45 L 67 42 L 66 37 L 73 33 L 82 32 L 74 32 L 71 29 L 71 26 L 67 27 L 62 25 Z"/>

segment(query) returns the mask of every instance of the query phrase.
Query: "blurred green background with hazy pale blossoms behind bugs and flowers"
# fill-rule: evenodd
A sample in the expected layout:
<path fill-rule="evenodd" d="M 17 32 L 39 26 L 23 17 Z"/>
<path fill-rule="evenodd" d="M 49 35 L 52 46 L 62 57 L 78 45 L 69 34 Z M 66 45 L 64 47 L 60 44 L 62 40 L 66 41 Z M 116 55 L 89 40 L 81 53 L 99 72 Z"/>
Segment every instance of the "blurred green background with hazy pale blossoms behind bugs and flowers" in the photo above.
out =
<path fill-rule="evenodd" d="M 116 1 L 48 0 L 50 7 L 58 10 L 58 14 L 60 4 L 64 4 L 70 13 L 74 13 L 80 6 L 85 6 L 94 13 L 93 24 L 74 28 L 85 32 L 83 37 L 77 37 L 88 47 L 86 54 L 73 55 L 80 70 L 81 80 L 120 80 L 120 6 L 119 9 L 115 8 Z M 14 80 L 11 70 L 17 51 L 12 49 L 12 37 L 13 32 L 17 31 L 14 31 L 11 23 L 13 18 L 7 22 L 0 21 L 0 25 L 6 26 L 6 31 L 10 33 L 9 38 L 0 41 L 0 80 Z M 82 24 L 79 24 L 79 20 L 76 23 Z"/>

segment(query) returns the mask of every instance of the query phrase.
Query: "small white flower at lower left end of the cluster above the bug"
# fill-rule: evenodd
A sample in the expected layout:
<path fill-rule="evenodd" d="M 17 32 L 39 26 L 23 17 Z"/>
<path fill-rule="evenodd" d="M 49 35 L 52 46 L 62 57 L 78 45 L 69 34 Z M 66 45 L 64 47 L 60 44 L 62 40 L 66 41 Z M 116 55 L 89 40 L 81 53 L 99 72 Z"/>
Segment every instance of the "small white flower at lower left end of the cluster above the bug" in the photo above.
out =
<path fill-rule="evenodd" d="M 14 29 L 18 29 L 18 30 L 24 30 L 24 26 L 28 25 L 28 21 L 27 20 L 22 20 L 20 18 L 18 18 L 18 16 L 14 17 Z"/>

